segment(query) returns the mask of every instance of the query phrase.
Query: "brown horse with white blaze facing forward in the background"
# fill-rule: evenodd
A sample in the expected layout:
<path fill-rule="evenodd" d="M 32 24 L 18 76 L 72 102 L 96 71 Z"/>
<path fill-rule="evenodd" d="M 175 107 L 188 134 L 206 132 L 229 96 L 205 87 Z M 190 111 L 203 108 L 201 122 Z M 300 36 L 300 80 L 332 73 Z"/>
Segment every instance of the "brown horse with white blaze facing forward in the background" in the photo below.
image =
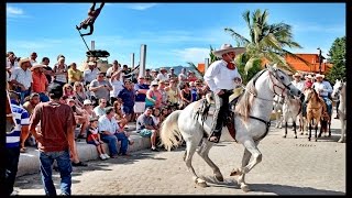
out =
<path fill-rule="evenodd" d="M 317 142 L 318 124 L 327 113 L 327 106 L 324 101 L 319 97 L 317 91 L 312 88 L 308 88 L 305 90 L 305 101 L 307 103 L 307 121 L 309 123 L 308 140 L 310 141 L 311 128 L 315 127 L 315 140 Z M 321 134 L 321 123 L 319 134 Z"/>

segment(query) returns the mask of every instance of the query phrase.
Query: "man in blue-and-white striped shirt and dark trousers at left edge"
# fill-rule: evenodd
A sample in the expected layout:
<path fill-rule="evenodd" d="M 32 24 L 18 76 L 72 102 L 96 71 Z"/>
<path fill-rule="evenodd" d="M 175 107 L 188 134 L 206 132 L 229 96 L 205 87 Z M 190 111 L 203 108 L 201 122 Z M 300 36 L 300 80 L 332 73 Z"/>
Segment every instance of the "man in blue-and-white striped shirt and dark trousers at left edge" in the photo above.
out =
<path fill-rule="evenodd" d="M 6 189 L 7 196 L 10 196 L 13 191 L 20 158 L 20 135 L 22 135 L 22 133 L 28 133 L 30 119 L 28 111 L 20 107 L 21 97 L 14 91 L 10 91 L 9 96 L 11 100 L 11 110 L 15 118 L 15 127 L 11 133 L 7 133 L 4 183 L 1 184 Z"/>

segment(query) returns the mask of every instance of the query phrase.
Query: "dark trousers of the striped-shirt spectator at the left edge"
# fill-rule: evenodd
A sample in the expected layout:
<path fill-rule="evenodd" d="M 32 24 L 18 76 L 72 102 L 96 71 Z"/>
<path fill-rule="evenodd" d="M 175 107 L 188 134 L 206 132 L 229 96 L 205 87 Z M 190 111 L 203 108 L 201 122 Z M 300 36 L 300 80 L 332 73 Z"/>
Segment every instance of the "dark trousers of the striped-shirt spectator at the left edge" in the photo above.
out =
<path fill-rule="evenodd" d="M 4 189 L 7 195 L 11 195 L 13 191 L 13 185 L 15 175 L 18 174 L 20 147 L 7 147 L 6 148 L 6 173 L 4 173 Z"/>

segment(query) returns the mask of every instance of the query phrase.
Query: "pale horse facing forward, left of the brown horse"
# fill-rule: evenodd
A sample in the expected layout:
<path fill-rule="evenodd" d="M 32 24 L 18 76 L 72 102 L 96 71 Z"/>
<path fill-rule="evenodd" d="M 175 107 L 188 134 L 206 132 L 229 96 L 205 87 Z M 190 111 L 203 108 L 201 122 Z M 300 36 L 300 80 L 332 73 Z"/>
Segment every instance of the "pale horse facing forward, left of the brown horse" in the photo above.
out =
<path fill-rule="evenodd" d="M 293 121 L 295 139 L 297 139 L 296 132 L 296 121 L 299 118 L 299 125 L 304 124 L 302 113 L 301 113 L 301 101 L 297 97 L 286 97 L 283 105 L 283 120 L 285 122 L 285 135 L 287 135 L 287 122 L 289 119 Z M 301 133 L 302 134 L 302 133 Z"/>

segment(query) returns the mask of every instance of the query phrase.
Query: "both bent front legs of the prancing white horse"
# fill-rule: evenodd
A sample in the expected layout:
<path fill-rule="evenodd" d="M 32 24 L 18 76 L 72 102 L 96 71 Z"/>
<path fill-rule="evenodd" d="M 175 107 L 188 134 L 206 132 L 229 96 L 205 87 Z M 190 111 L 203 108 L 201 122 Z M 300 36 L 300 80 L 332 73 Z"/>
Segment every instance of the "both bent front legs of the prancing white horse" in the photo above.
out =
<path fill-rule="evenodd" d="M 254 143 L 254 141 L 252 139 L 249 139 L 249 140 L 245 140 L 243 143 L 243 146 L 245 147 L 245 150 L 248 150 L 252 156 L 253 156 L 253 160 L 249 163 L 246 157 L 251 158 L 251 155 L 250 154 L 245 154 L 243 155 L 243 158 L 242 158 L 242 167 L 233 170 L 231 173 L 231 175 L 244 175 L 244 174 L 248 174 L 255 165 L 257 165 L 260 162 L 262 162 L 262 153 L 258 151 L 258 148 L 256 147 L 257 143 Z M 244 166 L 244 164 L 246 164 Z M 242 182 L 242 183 L 241 183 Z M 240 180 L 240 185 L 241 185 L 241 189 L 243 191 L 249 191 L 250 188 L 249 186 L 244 183 L 244 176 L 243 176 L 243 180 Z"/>

